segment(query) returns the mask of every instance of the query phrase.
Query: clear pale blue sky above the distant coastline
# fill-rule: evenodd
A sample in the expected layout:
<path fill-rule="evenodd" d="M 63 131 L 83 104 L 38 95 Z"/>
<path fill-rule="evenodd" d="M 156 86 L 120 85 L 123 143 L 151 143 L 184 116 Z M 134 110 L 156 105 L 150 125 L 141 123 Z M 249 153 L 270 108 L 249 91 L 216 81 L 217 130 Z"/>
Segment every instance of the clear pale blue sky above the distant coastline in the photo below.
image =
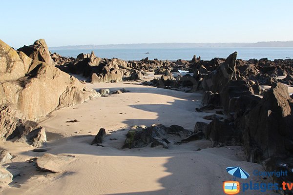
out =
<path fill-rule="evenodd" d="M 13 47 L 293 40 L 293 0 L 2 0 Z"/>

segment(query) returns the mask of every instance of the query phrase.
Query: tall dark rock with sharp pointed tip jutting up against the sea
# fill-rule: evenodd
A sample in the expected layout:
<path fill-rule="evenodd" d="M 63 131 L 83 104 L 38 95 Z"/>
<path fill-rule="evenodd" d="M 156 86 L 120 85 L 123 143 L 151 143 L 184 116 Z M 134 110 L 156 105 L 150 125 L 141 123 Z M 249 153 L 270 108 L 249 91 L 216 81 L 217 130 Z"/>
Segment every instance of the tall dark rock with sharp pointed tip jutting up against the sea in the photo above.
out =
<path fill-rule="evenodd" d="M 224 63 L 221 63 L 216 70 L 203 79 L 202 86 L 205 91 L 219 93 L 229 80 L 236 79 L 236 58 L 237 52 L 230 54 Z"/>

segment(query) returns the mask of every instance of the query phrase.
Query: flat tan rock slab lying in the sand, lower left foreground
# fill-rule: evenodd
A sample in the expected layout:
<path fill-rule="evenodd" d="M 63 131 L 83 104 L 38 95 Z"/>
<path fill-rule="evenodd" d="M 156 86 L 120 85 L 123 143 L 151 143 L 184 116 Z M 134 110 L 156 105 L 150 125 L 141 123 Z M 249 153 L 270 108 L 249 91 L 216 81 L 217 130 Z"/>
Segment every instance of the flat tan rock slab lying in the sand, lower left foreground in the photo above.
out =
<path fill-rule="evenodd" d="M 52 173 L 63 172 L 63 166 L 73 160 L 72 156 L 52 155 L 45 153 L 36 160 L 37 168 Z"/>

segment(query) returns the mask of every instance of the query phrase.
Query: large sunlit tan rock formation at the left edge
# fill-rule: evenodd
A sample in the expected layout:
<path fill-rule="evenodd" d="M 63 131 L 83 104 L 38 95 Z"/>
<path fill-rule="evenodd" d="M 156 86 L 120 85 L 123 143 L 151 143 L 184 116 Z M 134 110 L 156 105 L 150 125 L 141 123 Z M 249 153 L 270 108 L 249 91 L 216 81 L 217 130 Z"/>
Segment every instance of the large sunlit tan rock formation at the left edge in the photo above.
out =
<path fill-rule="evenodd" d="M 38 45 L 38 49 L 45 51 L 41 45 Z M 22 52 L 17 54 L 2 41 L 0 51 L 0 59 L 14 59 L 16 66 L 25 67 L 19 74 L 19 70 L 10 71 L 15 65 L 11 60 L 1 61 L 1 70 L 6 72 L 2 71 L 0 76 L 0 105 L 9 104 L 27 119 L 37 120 L 56 108 L 82 103 L 96 95 L 94 90 L 86 89 L 78 79 L 52 65 L 30 59 Z M 14 79 L 2 77 L 7 74 L 11 75 L 8 78 Z"/>

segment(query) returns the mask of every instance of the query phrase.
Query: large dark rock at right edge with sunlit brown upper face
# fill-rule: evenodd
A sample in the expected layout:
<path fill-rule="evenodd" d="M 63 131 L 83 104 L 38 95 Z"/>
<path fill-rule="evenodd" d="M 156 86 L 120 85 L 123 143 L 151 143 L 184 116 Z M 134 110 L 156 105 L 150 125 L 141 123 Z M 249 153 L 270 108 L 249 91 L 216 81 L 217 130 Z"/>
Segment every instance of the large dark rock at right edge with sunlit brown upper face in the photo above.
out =
<path fill-rule="evenodd" d="M 247 159 L 259 162 L 293 152 L 293 115 L 288 88 L 276 83 L 242 120 Z"/>

